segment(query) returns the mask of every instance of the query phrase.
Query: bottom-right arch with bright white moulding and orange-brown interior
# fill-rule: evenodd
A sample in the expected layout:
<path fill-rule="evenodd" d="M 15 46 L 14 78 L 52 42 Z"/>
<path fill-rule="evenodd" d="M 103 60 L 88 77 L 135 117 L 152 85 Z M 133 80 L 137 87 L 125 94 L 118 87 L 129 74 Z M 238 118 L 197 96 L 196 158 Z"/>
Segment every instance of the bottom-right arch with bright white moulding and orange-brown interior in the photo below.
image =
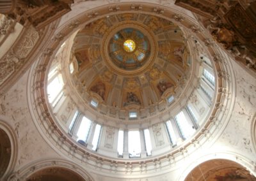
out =
<path fill-rule="evenodd" d="M 236 172 L 241 173 L 243 177 L 247 175 L 246 178 L 242 177 L 243 179 L 256 180 L 255 165 L 252 161 L 232 152 L 215 152 L 194 159 L 193 163 L 180 174 L 179 180 L 207 180 L 208 178 L 213 180 L 214 173 L 216 178 L 227 180 L 230 178 L 223 176 L 232 175 L 236 178 Z"/>

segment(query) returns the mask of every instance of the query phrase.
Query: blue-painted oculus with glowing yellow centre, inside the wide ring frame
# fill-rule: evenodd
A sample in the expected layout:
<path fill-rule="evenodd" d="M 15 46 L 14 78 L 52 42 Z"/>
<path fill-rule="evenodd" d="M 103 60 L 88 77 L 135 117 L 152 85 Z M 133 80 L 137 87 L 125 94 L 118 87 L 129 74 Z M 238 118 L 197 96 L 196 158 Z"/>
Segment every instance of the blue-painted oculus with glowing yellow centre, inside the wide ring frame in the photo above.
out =
<path fill-rule="evenodd" d="M 125 28 L 116 32 L 109 41 L 109 57 L 125 70 L 140 68 L 150 55 L 150 43 L 140 30 Z"/>

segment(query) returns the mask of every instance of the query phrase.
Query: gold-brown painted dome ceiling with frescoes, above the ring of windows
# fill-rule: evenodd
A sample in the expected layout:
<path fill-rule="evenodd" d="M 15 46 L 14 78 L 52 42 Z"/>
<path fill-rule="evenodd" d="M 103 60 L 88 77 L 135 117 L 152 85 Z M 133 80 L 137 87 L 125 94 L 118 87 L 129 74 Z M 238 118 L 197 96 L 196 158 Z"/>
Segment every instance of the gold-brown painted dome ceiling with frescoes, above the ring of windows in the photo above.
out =
<path fill-rule="evenodd" d="M 190 69 L 179 26 L 152 15 L 100 18 L 77 33 L 72 49 L 74 82 L 83 82 L 99 103 L 120 109 L 145 108 L 174 95 Z"/>

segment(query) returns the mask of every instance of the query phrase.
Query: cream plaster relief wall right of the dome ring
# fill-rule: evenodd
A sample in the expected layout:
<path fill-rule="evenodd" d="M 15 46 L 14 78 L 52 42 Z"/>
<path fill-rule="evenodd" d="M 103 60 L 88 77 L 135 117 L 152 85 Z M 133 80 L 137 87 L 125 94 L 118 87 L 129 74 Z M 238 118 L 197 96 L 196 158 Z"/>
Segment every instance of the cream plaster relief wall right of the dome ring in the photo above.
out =
<path fill-rule="evenodd" d="M 234 66 L 237 65 L 234 64 Z M 253 154 L 252 140 L 248 130 L 250 130 L 253 115 L 255 115 L 256 82 L 252 76 L 244 73 L 241 67 L 237 66 L 236 69 L 236 103 L 228 126 L 222 134 L 220 141 L 238 148 L 241 152 L 245 151 Z"/>

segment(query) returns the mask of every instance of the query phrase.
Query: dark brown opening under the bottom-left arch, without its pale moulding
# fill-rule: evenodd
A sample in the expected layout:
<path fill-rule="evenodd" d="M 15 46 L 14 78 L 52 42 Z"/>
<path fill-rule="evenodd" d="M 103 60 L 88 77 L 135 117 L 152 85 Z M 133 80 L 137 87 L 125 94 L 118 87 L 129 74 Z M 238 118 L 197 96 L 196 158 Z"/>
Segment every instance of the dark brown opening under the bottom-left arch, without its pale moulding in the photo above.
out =
<path fill-rule="evenodd" d="M 45 168 L 43 170 L 36 171 L 27 181 L 32 180 L 55 180 L 55 181 L 84 181 L 84 178 L 75 173 L 74 171 L 68 170 L 67 168 L 53 167 L 53 168 Z"/>

